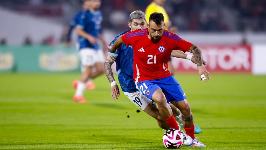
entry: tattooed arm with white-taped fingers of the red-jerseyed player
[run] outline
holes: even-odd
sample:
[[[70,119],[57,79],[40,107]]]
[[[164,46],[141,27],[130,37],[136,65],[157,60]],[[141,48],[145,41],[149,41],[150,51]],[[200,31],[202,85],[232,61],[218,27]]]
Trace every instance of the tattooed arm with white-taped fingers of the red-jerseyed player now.
[[[198,66],[198,70],[199,70],[199,74],[200,74],[200,80],[203,80],[203,81],[207,81],[206,77],[210,80],[210,73],[204,68],[203,66],[203,60],[202,60],[202,53],[200,51],[200,49],[193,45],[189,48],[189,50],[192,51],[196,61],[197,61],[197,66]]]

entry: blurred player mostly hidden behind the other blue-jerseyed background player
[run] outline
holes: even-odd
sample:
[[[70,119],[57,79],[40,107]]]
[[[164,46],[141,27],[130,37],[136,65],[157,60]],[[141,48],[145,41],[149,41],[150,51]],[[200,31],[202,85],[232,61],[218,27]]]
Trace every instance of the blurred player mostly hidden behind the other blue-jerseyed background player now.
[[[79,11],[75,16],[74,18],[72,19],[72,21],[70,22],[70,26],[69,26],[69,31],[67,33],[67,47],[71,47],[71,34],[72,34],[72,30],[74,28],[76,28],[76,26],[80,23],[80,18],[81,18],[81,15],[82,15],[82,12],[83,11],[87,11],[90,9],[90,1],[88,0],[83,0],[83,4],[82,4],[82,11]],[[77,41],[76,43],[76,48],[77,48],[77,51],[79,50],[80,48],[80,44],[79,42]],[[82,66],[81,66],[82,67]],[[84,69],[82,69],[81,71],[84,71]],[[77,88],[77,84],[78,84],[78,81],[74,81],[72,83],[72,86],[76,89]],[[88,79],[87,83],[86,83],[86,88],[87,89],[95,89],[95,85],[93,84],[93,81],[92,79]]]

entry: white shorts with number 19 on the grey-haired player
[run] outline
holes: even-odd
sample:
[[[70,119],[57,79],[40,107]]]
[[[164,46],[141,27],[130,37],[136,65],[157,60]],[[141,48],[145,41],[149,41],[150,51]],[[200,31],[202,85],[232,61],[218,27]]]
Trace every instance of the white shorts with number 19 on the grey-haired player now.
[[[132,101],[136,106],[138,106],[142,110],[144,110],[152,101],[145,97],[143,94],[141,94],[140,91],[136,91],[134,93],[124,92],[124,94],[127,98],[130,99],[130,101]],[[156,103],[153,102],[152,104],[155,105]]]

